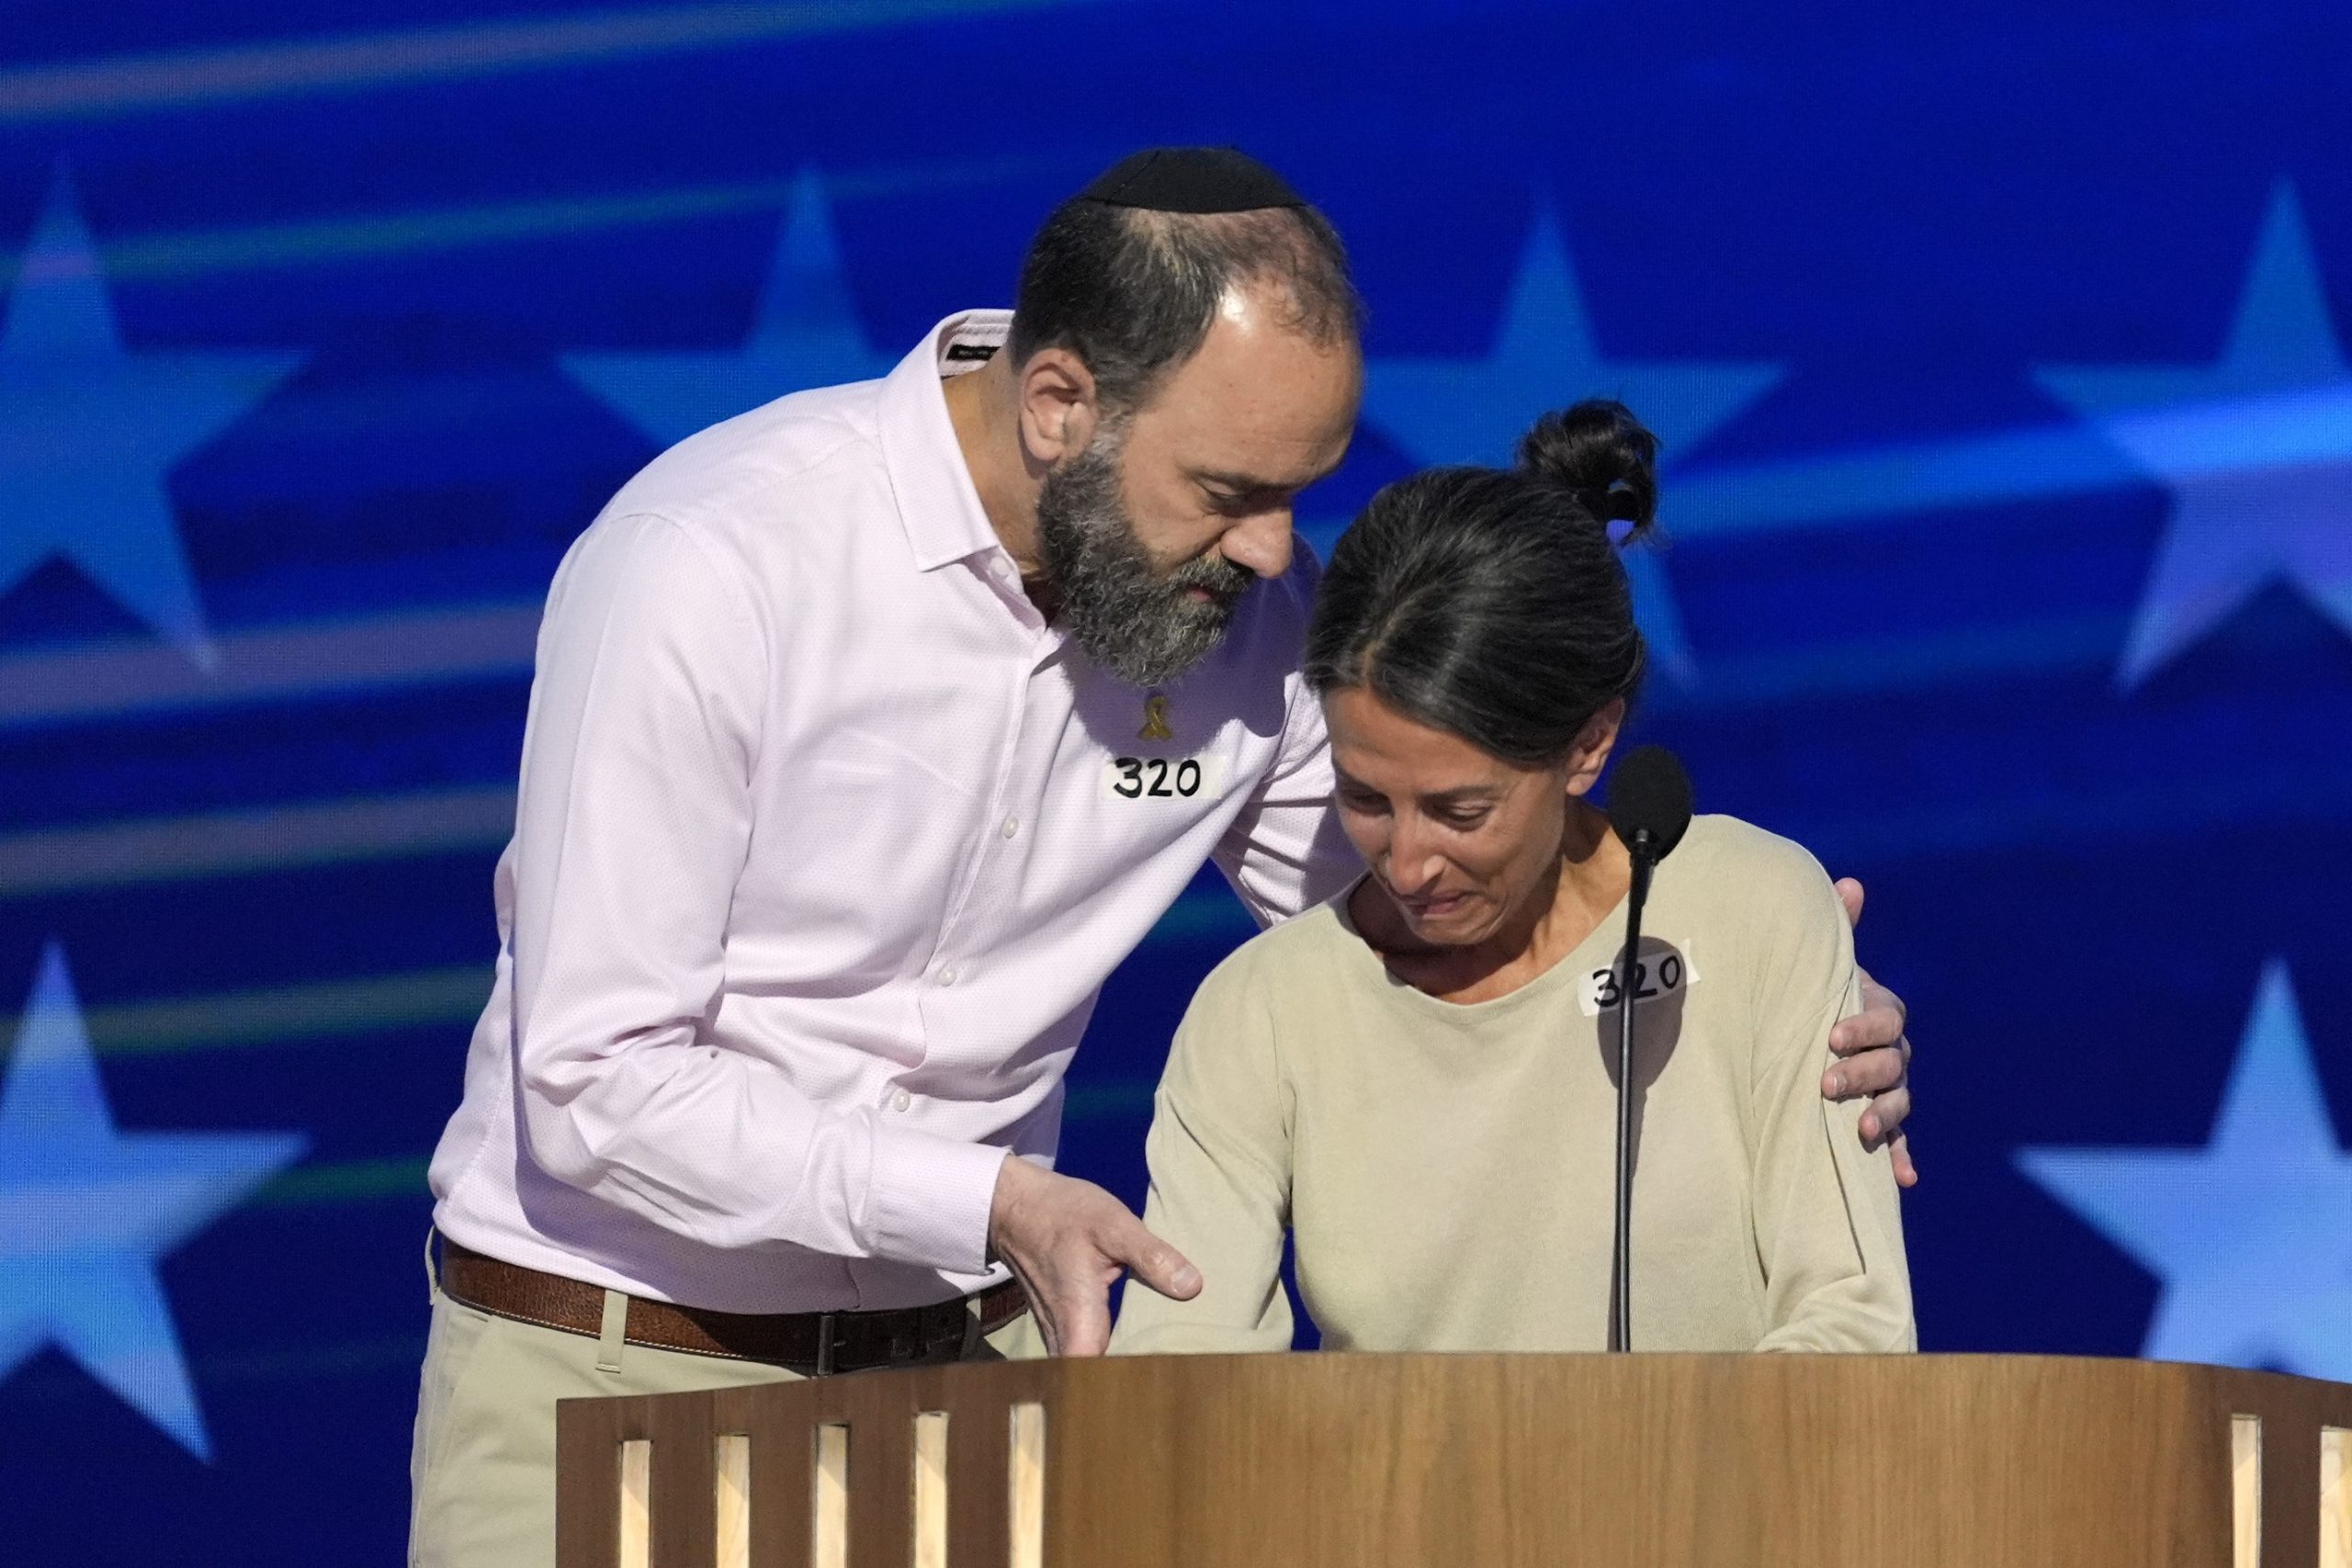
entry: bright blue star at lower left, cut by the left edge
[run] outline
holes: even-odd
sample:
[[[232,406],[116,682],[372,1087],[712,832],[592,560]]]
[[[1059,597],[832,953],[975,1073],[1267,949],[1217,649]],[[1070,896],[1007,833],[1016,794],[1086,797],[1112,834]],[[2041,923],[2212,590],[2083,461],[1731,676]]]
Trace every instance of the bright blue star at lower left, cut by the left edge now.
[[[296,1133],[118,1133],[52,943],[0,1086],[0,1378],[56,1345],[212,1458],[155,1262],[301,1150]]]

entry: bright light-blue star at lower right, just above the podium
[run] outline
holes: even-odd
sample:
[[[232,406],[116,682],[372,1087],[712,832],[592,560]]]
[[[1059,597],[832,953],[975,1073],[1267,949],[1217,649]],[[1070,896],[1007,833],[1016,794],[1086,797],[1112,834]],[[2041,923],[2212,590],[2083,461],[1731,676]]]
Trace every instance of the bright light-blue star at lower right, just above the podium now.
[[[2328,1124],[2286,964],[2263,969],[2201,1150],[2018,1150],[2164,1279],[2140,1354],[2352,1378],[2352,1150]]]

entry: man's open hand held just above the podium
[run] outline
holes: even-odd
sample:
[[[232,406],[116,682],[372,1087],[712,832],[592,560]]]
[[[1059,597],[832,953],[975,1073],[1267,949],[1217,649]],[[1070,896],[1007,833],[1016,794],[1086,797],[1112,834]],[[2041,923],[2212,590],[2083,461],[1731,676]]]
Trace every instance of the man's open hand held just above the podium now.
[[[1174,1300],[1200,1295],[1200,1269],[1143,1229],[1127,1204],[1018,1157],[997,1171],[988,1248],[1028,1291],[1044,1347],[1056,1356],[1098,1356],[1110,1345],[1110,1286],[1120,1269]]]

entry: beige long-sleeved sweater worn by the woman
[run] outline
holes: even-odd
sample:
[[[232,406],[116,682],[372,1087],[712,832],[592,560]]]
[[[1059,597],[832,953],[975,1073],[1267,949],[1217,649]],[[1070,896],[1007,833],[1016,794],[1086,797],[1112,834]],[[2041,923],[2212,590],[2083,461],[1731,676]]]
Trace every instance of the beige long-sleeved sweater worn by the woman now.
[[[1820,865],[1703,816],[1658,867],[1635,1011],[1635,1349],[1915,1349],[1889,1159],[1828,1105],[1853,938]],[[1345,898],[1200,987],[1145,1225],[1204,1276],[1129,1286],[1115,1352],[1287,1349],[1282,1237],[1331,1349],[1606,1349],[1618,907],[1529,985],[1428,997]]]

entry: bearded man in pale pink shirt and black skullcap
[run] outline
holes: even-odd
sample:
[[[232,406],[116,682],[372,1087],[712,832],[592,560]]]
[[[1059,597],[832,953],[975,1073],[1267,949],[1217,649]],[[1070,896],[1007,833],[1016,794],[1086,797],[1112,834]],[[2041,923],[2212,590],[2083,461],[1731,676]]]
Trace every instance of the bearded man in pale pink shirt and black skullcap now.
[[[1202,860],[1261,922],[1355,870],[1291,501],[1359,388],[1329,223],[1141,153],[1011,317],[682,442],[581,536],[433,1159],[412,1563],[550,1561],[557,1399],[1098,1354],[1122,1272],[1200,1288],[1051,1173],[1061,1077]],[[1849,1020],[1875,1135],[1900,1032]]]

